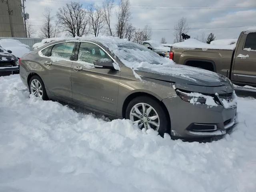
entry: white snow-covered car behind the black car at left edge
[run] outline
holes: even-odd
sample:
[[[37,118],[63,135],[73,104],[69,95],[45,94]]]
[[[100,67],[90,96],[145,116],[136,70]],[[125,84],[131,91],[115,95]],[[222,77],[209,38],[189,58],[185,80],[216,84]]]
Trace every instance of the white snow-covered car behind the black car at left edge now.
[[[18,58],[21,58],[24,54],[30,52],[28,45],[23,44],[16,39],[1,39],[0,46],[6,50],[11,50],[12,54]]]

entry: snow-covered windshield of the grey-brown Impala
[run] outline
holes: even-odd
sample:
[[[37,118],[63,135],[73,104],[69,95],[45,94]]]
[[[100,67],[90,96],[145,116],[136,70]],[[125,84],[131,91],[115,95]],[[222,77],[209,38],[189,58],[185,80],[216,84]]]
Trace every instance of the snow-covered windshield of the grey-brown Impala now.
[[[132,43],[120,42],[117,44],[118,48],[112,50],[118,58],[124,63],[149,63],[149,64],[162,64],[166,60],[160,57],[155,52],[148,48]]]

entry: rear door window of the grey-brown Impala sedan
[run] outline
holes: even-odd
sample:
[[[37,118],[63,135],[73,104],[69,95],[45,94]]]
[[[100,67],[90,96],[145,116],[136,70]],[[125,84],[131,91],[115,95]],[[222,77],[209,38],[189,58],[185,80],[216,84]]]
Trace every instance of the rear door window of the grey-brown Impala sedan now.
[[[61,57],[70,60],[75,46],[75,42],[59,43],[54,45],[50,56]]]

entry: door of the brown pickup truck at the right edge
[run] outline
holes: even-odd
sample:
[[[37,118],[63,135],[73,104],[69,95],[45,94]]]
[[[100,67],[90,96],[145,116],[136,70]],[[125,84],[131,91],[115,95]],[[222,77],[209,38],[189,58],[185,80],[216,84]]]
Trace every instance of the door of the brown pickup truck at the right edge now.
[[[244,34],[237,46],[233,80],[256,84],[256,33]]]

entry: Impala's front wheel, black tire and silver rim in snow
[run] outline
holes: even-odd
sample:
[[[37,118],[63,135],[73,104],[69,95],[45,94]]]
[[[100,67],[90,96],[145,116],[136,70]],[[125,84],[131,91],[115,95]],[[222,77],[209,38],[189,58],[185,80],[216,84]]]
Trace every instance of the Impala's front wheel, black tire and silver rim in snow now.
[[[134,98],[126,108],[126,119],[138,124],[140,129],[154,129],[161,136],[168,130],[168,118],[161,104],[147,96]]]

